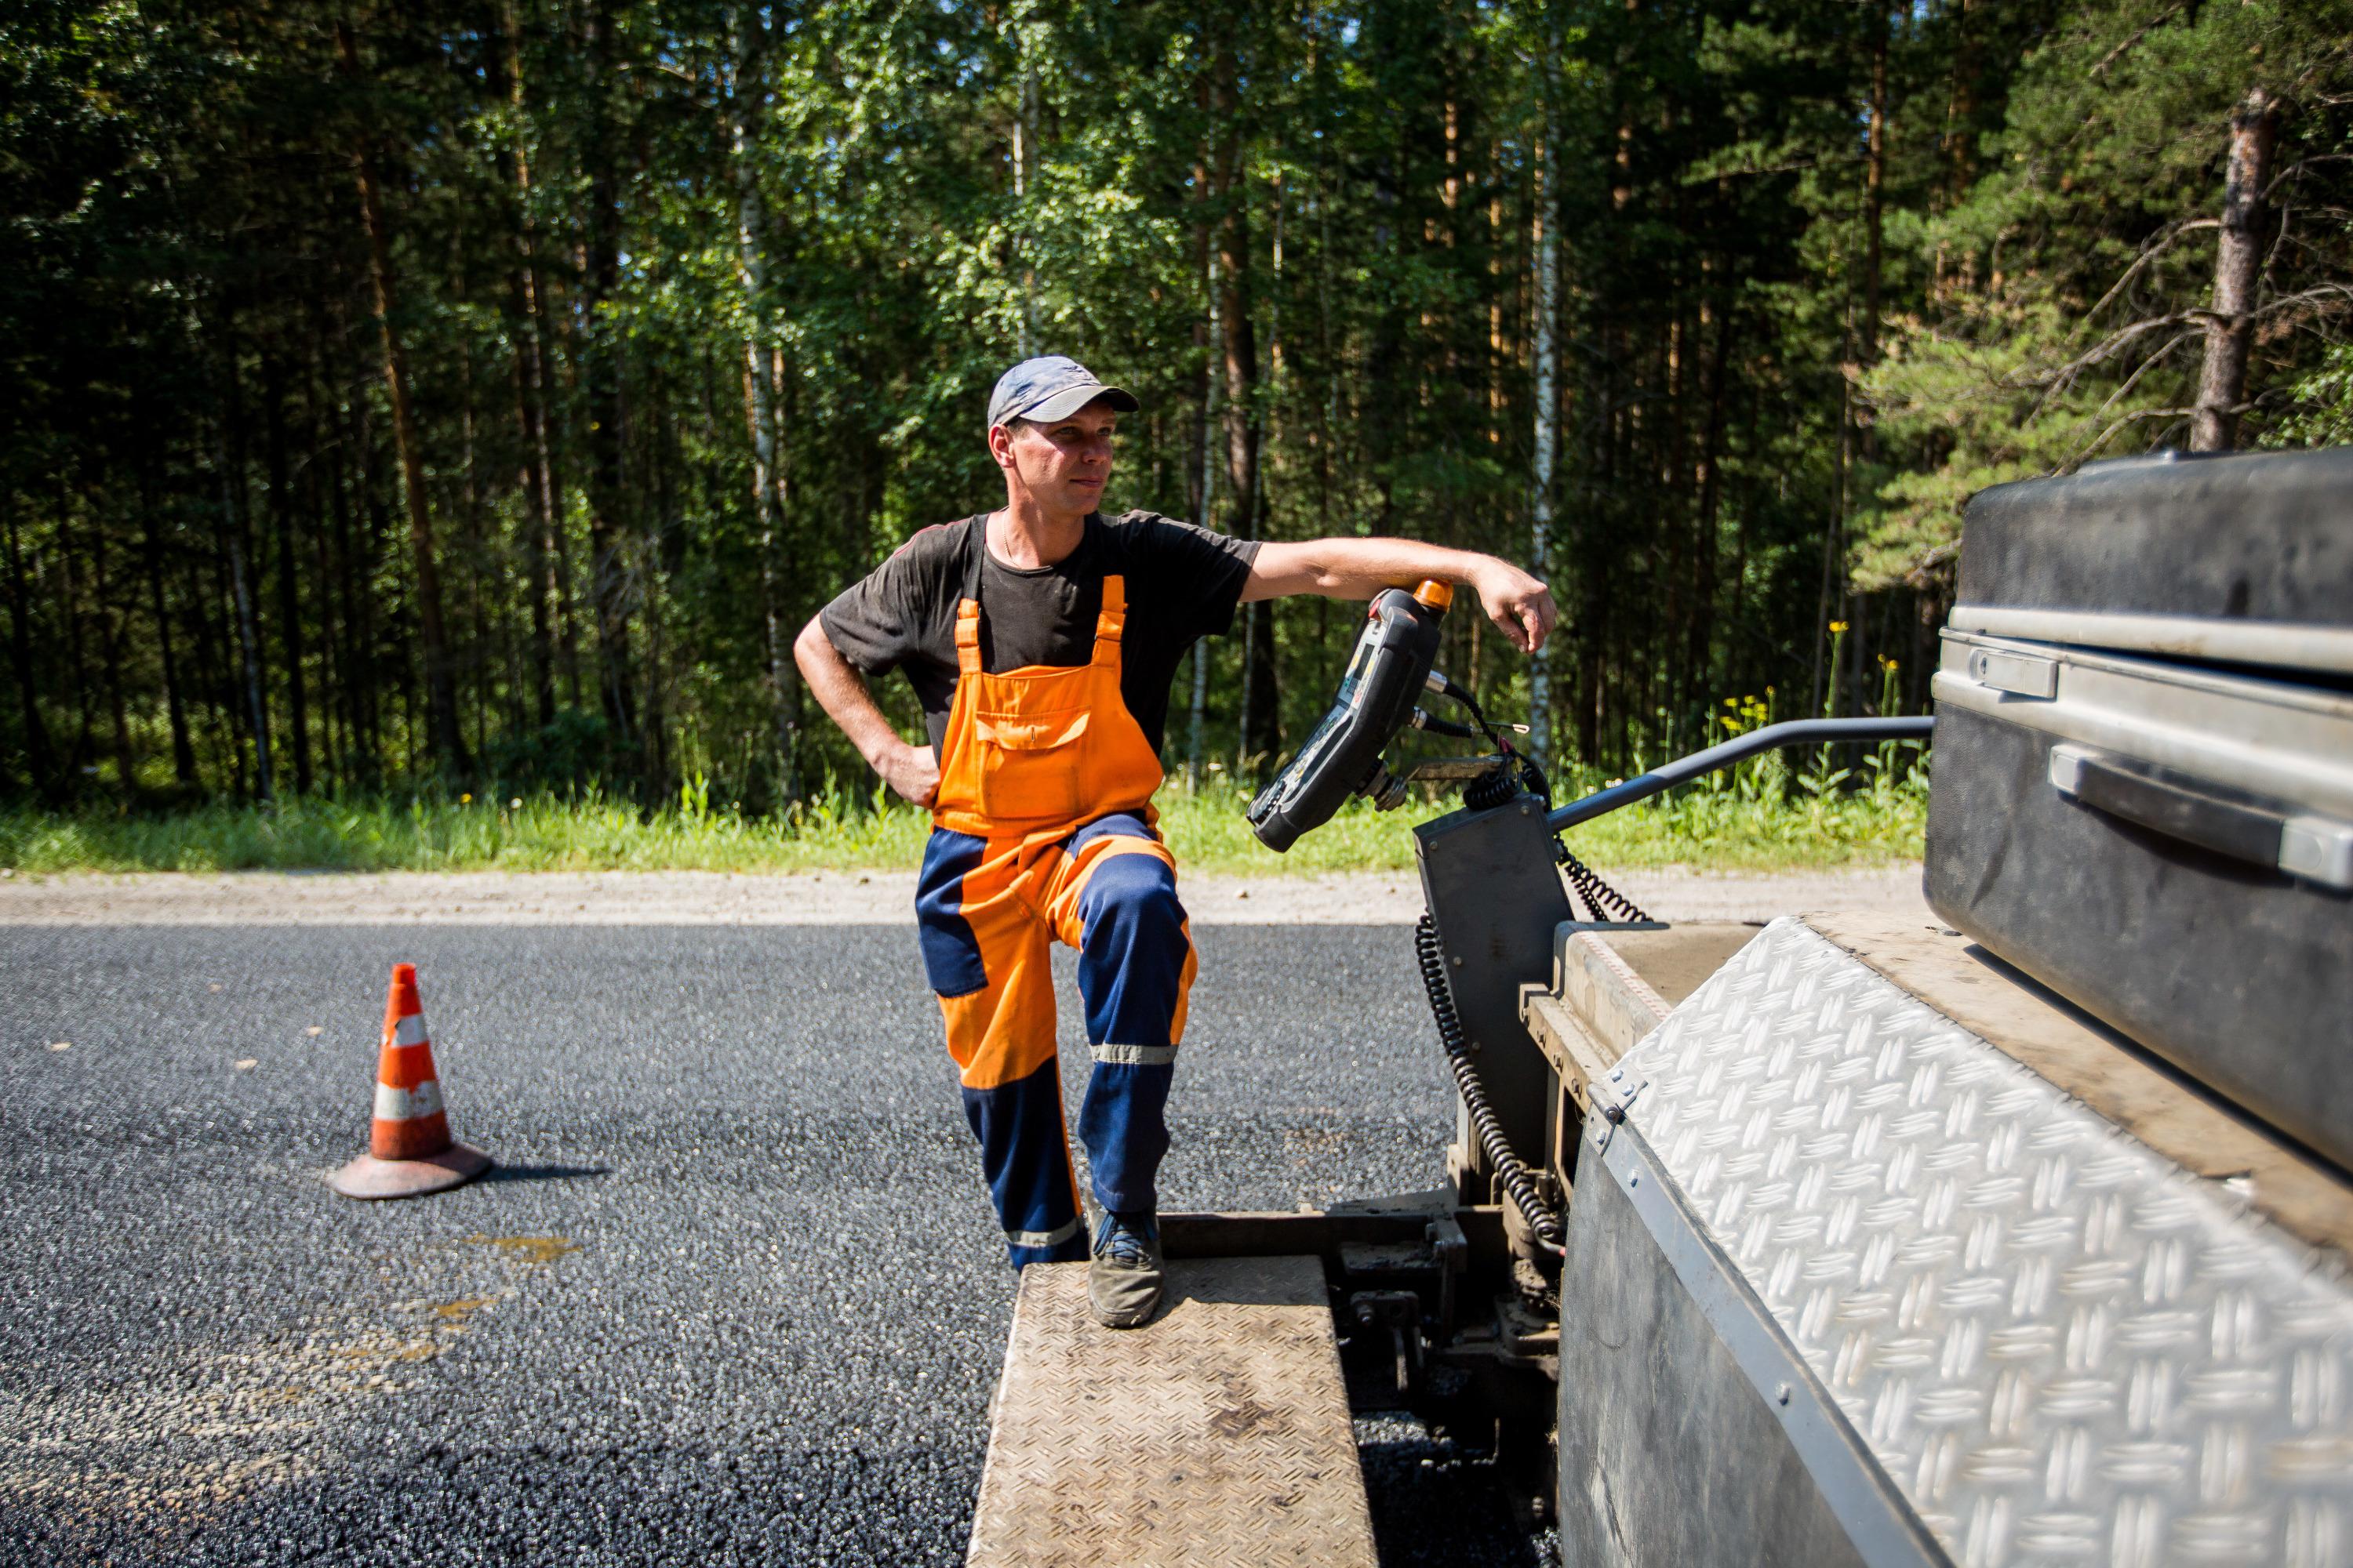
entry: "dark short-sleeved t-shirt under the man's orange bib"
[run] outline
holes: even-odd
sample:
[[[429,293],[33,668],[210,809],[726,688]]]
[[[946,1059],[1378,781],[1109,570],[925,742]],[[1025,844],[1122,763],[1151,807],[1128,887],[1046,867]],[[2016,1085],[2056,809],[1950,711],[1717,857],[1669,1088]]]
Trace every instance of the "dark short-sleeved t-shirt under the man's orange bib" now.
[[[1169,682],[1200,637],[1233,625],[1259,541],[1212,534],[1160,512],[1087,517],[1087,534],[1052,567],[1019,569],[988,555],[988,520],[965,517],[915,534],[899,552],[819,611],[826,637],[866,675],[906,670],[936,752],[955,701],[955,602],[979,552],[981,668],[1082,665],[1094,656],[1104,578],[1127,588],[1120,696],[1160,750]]]

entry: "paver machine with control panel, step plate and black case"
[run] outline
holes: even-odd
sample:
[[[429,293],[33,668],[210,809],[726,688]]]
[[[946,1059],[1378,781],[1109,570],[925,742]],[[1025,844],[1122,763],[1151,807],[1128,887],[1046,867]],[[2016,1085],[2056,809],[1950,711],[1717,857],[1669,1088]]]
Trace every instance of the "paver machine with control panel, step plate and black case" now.
[[[972,1561],[1369,1563],[1351,1413],[1407,1408],[1567,1563],[2353,1563],[2353,449],[1974,498],[1932,919],[1666,924],[1574,856],[1932,719],[1553,804],[1433,670],[1442,614],[1374,602],[1249,809],[1287,849],[1461,790],[1414,827],[1442,1182],[1165,1215],[1127,1335],[1028,1269]]]

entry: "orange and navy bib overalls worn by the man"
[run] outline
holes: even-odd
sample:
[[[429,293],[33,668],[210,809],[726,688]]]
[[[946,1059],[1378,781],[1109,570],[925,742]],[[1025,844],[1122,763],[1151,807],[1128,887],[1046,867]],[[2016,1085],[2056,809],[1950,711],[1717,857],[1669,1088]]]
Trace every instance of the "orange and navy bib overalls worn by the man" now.
[[[974,522],[955,701],[915,914],[965,1119],[1014,1267],[1087,1255],[1054,1056],[1052,943],[1078,947],[1094,1067],[1078,1114],[1106,1211],[1158,1206],[1165,1105],[1193,987],[1176,860],[1153,832],[1160,757],[1120,696],[1127,595],[1104,578],[1082,665],[981,668]]]

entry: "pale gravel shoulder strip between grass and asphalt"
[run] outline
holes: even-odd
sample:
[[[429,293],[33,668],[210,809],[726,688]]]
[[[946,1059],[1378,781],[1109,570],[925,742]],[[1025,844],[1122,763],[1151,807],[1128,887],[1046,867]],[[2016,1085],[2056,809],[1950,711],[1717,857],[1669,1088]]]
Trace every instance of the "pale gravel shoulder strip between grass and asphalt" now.
[[[1929,919],[1920,865],[1718,875],[1605,870],[1659,919],[1873,910]],[[1186,877],[1198,926],[1402,926],[1412,872]],[[0,926],[875,926],[911,924],[913,872],[231,872],[0,882]]]

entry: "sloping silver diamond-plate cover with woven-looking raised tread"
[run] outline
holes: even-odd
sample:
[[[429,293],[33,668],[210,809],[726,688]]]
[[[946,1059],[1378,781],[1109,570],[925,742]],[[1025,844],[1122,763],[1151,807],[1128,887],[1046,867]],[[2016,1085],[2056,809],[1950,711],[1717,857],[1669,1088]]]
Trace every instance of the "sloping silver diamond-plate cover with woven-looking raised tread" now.
[[[1591,1150],[1664,1251],[1704,1237],[1687,1286],[1729,1269],[1765,1406],[1835,1413],[1953,1561],[2353,1561],[2353,1281],[2231,1182],[1788,919],[1612,1077]]]

